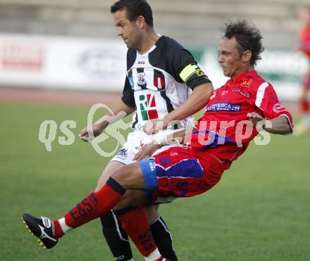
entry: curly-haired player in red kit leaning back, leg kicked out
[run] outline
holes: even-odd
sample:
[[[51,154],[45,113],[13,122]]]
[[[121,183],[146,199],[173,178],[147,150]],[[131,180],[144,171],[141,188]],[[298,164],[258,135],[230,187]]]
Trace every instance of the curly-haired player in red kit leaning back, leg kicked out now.
[[[52,248],[63,234],[112,208],[204,193],[220,181],[224,170],[246,151],[261,129],[273,134],[292,133],[292,116],[278,101],[272,85],[254,70],[263,51],[261,39],[259,30],[246,21],[226,25],[218,61],[230,79],[213,92],[192,135],[184,139],[185,131],[172,134],[175,139],[184,139],[182,146],[159,149],[171,139],[159,134],[156,144],[147,144],[137,153],[136,163],[113,172],[102,189],[90,193],[61,219],[24,214],[30,231]],[[143,160],[152,153],[149,160]],[[123,196],[126,191],[131,192]],[[147,240],[145,246],[152,247]],[[159,258],[154,255],[146,260]]]

